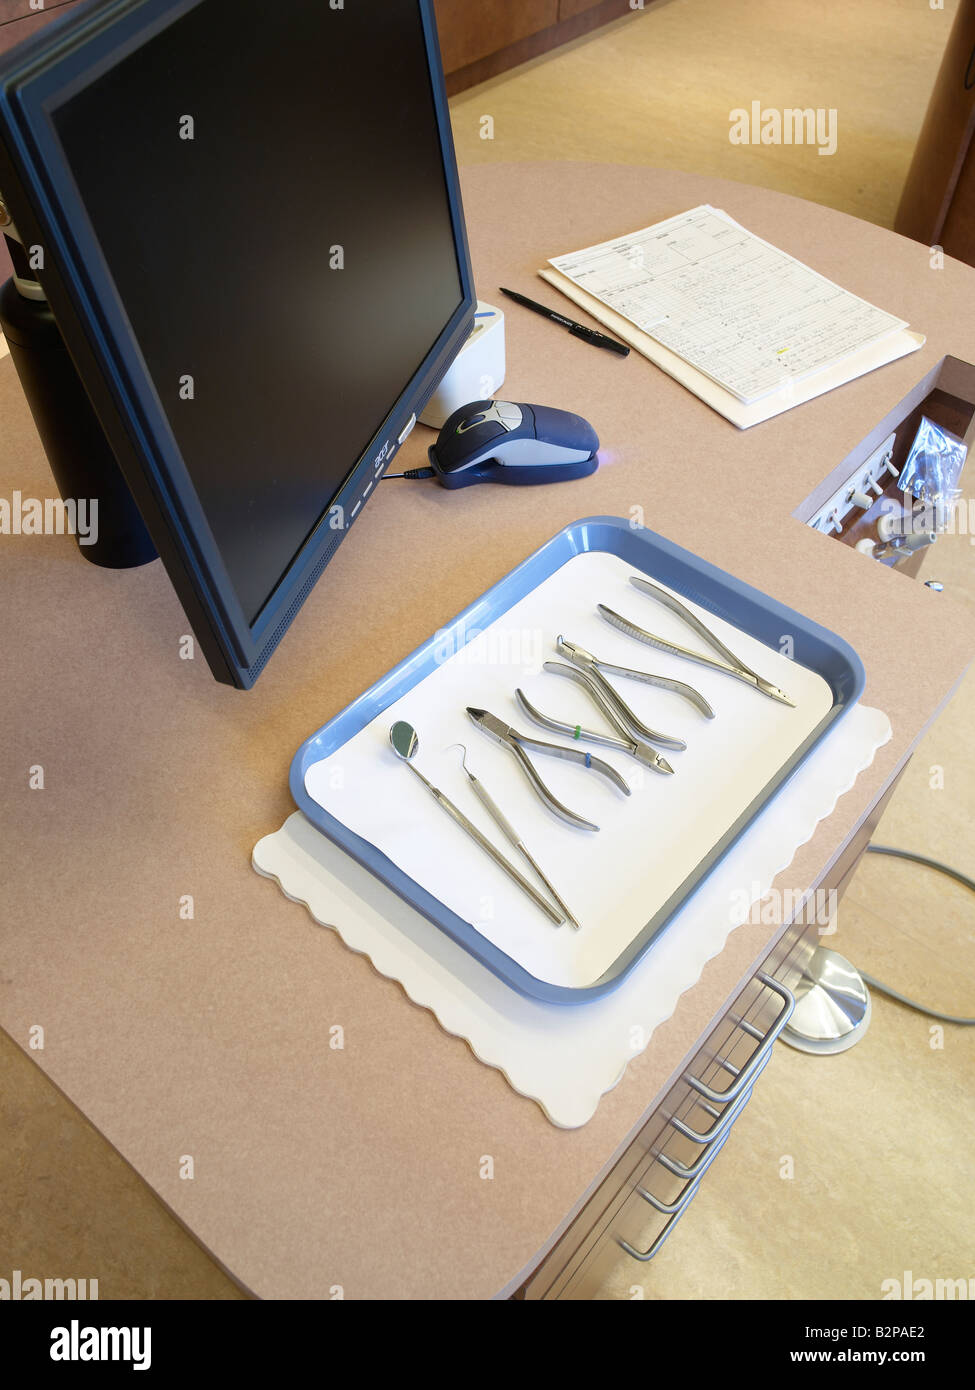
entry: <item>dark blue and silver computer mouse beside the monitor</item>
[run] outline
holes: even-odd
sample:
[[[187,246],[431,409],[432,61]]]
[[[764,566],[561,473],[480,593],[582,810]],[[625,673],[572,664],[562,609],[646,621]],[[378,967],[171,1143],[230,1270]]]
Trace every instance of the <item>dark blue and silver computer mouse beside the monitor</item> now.
[[[430,463],[445,488],[474,482],[519,486],[586,478],[599,467],[595,430],[569,410],[510,400],[473,400],[455,410]]]

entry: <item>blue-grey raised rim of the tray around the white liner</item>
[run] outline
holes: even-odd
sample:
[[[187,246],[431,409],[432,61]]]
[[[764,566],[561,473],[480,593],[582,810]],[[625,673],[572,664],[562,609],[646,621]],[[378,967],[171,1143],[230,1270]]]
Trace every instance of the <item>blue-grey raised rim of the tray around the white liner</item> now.
[[[456,649],[460,649],[472,639],[473,634],[506,613],[567,560],[590,550],[604,550],[619,556],[633,569],[666,584],[691,603],[698,603],[716,617],[732,623],[769,646],[777,645],[783,631],[793,634],[794,660],[816,671],[828,682],[833,694],[833,703],[807,739],[783,763],[776,776],[700,860],[694,872],[645,927],[637,933],[612,966],[593,984],[572,988],[538,980],[392,863],[376,845],[355,834],[324,810],[305,790],[305,774],[313,763],[328,758],[395,701],[430,676],[438,664],[438,653],[442,653],[445,639],[453,638]],[[423,913],[452,941],[469,951],[512,990],[545,1004],[583,1004],[608,994],[623,981],[626,974],[647,954],[670,917],[744,834],[755,816],[786,784],[833,724],[857,703],[864,682],[865,674],[860,657],[847,642],[828,628],[803,617],[784,603],[743,584],[652,531],[634,530],[629,521],[620,517],[587,517],[559,531],[541,549],[483,594],[470,607],[459,613],[452,623],[438,630],[435,635],[430,637],[370,689],[324,724],[312,738],[306,739],[292,759],[291,794],[299,810],[328,840],[374,873],[387,887]]]

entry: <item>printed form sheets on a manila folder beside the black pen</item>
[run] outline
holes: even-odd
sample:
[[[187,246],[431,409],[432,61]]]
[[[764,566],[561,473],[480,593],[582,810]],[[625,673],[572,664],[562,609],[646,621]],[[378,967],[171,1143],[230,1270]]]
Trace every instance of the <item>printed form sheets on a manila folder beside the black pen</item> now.
[[[924,343],[715,207],[549,265],[544,279],[741,430]]]

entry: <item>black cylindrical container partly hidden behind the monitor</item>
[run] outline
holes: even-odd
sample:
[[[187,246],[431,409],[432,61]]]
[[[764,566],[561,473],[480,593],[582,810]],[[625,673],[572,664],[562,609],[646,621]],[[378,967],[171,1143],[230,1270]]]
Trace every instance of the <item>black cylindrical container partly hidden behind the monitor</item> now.
[[[93,564],[132,569],[156,546],[64,345],[50,304],[0,286],[0,328],[61,498],[97,498],[97,539],[78,549]]]

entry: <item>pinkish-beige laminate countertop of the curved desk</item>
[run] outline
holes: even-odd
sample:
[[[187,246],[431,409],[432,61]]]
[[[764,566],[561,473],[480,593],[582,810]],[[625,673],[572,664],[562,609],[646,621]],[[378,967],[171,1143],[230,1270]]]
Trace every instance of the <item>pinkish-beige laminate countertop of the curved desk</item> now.
[[[179,659],[188,624],[160,563],[113,573],[65,538],[0,538],[0,1022],[25,1048],[43,1026],[32,1059],[263,1297],[510,1291],[777,934],[734,931],[595,1118],[556,1130],[250,869],[292,809],[288,766],[309,734],[562,525],[643,507],[652,530],[844,637],[864,699],[890,716],[893,741],[779,880],[804,888],[975,651],[947,595],[791,514],[946,354],[975,360],[975,271],[932,270],[925,247],[823,207],[645,168],[480,167],[465,199],[488,302],[499,284],[548,299],[547,256],[709,202],[928,342],[741,434],[636,353],[505,304],[502,393],[587,416],[613,461],[541,489],[380,488],[248,694]],[[421,463],[428,438],[417,430],[398,466]],[[0,495],[17,488],[53,492],[3,357]],[[33,764],[43,792],[28,790]]]

